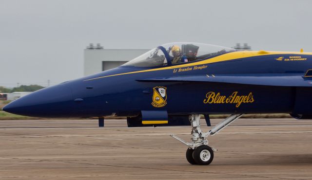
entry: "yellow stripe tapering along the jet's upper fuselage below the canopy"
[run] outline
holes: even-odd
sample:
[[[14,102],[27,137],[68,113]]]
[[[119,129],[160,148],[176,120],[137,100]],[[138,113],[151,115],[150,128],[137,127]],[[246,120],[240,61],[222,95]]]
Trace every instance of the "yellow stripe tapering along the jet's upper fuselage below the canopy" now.
[[[265,54],[263,52],[265,52]],[[179,65],[173,65],[173,66],[169,66],[169,67],[156,68],[156,69],[150,69],[150,70],[142,70],[142,71],[135,71],[135,72],[125,72],[125,73],[120,73],[120,74],[112,74],[112,75],[106,75],[106,76],[96,77],[96,78],[92,78],[92,79],[86,79],[84,81],[90,81],[90,80],[94,80],[94,79],[99,79],[99,78],[104,78],[104,77],[111,77],[111,76],[117,76],[117,75],[133,74],[133,73],[139,73],[139,72],[152,72],[152,71],[161,71],[161,70],[170,70],[170,69],[176,69],[176,68],[184,68],[184,67],[188,67],[188,66],[197,66],[197,65],[211,64],[211,63],[215,63],[215,62],[222,62],[222,61],[228,61],[228,60],[245,58],[245,57],[272,55],[272,54],[298,54],[298,55],[304,54],[304,55],[312,55],[312,53],[300,53],[300,52],[235,51],[235,52],[232,52],[232,53],[222,54],[222,55],[210,58],[210,59],[196,61],[194,63],[179,64]]]

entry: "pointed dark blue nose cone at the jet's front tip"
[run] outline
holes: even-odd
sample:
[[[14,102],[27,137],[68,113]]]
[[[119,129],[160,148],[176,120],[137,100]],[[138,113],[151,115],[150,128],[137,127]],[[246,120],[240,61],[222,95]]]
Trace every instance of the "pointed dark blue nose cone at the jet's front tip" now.
[[[71,88],[60,84],[20,97],[2,109],[32,117],[70,117],[73,102]]]

